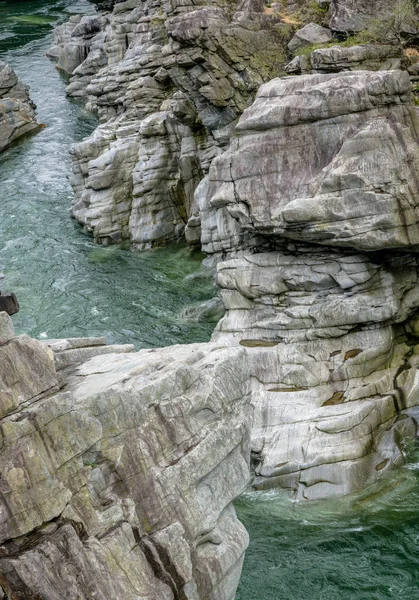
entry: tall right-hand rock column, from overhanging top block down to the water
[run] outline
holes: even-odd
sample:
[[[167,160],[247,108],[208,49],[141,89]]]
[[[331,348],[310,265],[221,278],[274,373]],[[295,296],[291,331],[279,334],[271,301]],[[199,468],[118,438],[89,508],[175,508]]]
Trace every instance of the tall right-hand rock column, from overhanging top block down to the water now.
[[[213,339],[249,354],[258,488],[362,489],[416,434],[418,126],[406,72],[275,79],[212,163]]]

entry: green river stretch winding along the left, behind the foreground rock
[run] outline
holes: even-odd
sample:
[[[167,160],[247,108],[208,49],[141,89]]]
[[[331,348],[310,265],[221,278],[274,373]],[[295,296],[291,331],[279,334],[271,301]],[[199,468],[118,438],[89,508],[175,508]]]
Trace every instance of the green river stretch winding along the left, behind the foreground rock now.
[[[208,279],[193,279],[200,255],[181,246],[144,254],[101,248],[70,218],[69,147],[96,121],[65,97],[45,52],[53,24],[76,10],[92,7],[0,0],[0,60],[30,85],[46,125],[0,156],[1,285],[19,298],[15,327],[38,338],[106,335],[137,348],[208,341],[213,324],[179,318],[185,306],[214,295]]]

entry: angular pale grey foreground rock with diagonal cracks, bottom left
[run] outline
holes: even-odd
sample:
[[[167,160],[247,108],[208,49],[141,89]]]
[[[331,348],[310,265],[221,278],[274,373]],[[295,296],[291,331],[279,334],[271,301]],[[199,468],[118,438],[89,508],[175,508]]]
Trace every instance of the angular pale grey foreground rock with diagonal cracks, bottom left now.
[[[232,506],[250,476],[244,349],[197,344],[67,362],[57,392],[50,348],[60,356],[100,340],[45,346],[11,337],[5,319],[3,593],[233,600],[248,542]]]

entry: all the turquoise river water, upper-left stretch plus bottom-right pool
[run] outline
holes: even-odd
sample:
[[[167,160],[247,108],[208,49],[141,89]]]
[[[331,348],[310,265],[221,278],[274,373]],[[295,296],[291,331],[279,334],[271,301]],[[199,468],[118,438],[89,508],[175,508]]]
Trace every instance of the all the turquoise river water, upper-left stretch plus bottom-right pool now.
[[[93,10],[87,0],[0,0],[0,60],[31,86],[46,125],[0,157],[0,271],[21,303],[16,329],[138,348],[206,341],[212,325],[179,318],[214,293],[201,256],[101,248],[70,218],[68,150],[96,122],[65,97],[45,52],[54,24]],[[301,505],[248,493],[236,508],[251,538],[237,600],[419,599],[417,452],[362,496]]]

